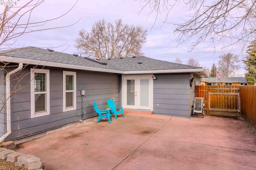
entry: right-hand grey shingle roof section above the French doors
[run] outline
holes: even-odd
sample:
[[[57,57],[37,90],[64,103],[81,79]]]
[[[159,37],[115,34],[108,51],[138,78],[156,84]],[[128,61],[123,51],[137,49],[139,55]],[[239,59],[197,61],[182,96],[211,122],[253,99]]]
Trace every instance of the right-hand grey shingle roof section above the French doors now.
[[[103,59],[101,60],[112,66],[118,67],[123,71],[139,71],[139,70],[172,70],[172,69],[189,69],[189,68],[201,68],[195,66],[189,66],[185,64],[171,63],[168,61],[151,59],[145,56],[137,57],[124,57],[113,58],[113,59]],[[139,64],[141,63],[141,64]]]

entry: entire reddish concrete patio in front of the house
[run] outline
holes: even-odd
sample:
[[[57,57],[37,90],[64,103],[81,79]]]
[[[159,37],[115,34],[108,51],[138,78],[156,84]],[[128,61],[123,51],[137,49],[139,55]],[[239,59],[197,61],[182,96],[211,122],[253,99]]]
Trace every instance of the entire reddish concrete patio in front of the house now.
[[[240,117],[169,117],[125,113],[22,143],[47,170],[251,170],[256,135]]]

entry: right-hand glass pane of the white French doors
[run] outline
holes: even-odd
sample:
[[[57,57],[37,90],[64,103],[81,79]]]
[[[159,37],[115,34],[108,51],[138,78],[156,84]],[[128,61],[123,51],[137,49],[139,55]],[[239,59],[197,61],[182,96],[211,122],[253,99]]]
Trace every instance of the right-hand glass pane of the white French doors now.
[[[140,80],[140,106],[148,106],[149,85],[148,80]]]

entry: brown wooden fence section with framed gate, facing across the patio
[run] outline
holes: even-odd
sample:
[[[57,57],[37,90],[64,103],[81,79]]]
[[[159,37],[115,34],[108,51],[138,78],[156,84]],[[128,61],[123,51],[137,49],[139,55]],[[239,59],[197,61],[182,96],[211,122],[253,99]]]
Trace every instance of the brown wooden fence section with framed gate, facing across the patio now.
[[[240,115],[240,88],[230,86],[195,86],[195,97],[204,98],[204,111],[211,115]]]

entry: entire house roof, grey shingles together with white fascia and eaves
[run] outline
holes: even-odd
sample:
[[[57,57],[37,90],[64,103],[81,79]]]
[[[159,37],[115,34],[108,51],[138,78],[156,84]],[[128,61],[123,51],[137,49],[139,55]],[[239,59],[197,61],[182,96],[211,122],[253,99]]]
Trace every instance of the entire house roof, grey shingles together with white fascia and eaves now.
[[[151,59],[148,57],[125,57],[94,60],[37,47],[25,47],[14,50],[0,51],[1,61],[54,66],[78,70],[112,72],[118,74],[156,74],[190,72],[201,77],[208,77],[204,68],[188,66]],[[138,62],[142,62],[139,64]]]

